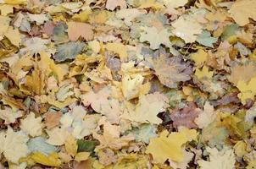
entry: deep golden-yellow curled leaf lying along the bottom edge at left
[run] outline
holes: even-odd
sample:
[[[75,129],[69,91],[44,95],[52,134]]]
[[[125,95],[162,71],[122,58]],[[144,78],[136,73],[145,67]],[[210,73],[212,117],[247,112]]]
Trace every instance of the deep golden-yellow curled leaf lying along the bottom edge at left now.
[[[36,163],[45,166],[60,166],[61,161],[58,159],[57,153],[52,153],[50,155],[43,155],[41,152],[36,152],[31,155],[31,158],[36,161]]]

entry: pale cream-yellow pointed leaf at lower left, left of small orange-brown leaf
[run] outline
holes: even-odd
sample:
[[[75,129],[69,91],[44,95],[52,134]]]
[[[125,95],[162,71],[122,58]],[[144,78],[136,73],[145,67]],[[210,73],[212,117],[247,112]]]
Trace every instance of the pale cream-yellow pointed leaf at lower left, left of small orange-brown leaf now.
[[[32,137],[42,134],[42,117],[35,117],[31,112],[25,119],[21,120],[20,128]]]

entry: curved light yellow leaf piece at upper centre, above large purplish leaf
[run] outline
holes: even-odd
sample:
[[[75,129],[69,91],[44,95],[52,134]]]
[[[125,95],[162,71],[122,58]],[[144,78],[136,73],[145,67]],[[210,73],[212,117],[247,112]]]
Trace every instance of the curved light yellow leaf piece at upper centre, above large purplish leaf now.
[[[108,43],[105,47],[111,52],[118,53],[121,61],[124,61],[128,57],[126,46],[122,43]]]

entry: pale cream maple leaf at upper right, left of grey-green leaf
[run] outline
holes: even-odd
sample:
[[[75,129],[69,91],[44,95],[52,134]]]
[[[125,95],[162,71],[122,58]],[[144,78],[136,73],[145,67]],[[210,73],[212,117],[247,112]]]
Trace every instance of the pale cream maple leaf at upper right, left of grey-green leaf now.
[[[189,29],[187,29],[189,25]],[[186,43],[192,43],[197,40],[197,35],[202,33],[203,26],[200,25],[197,20],[190,17],[181,16],[179,19],[175,20],[172,24],[175,28],[173,33],[181,37]]]

